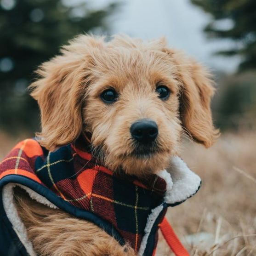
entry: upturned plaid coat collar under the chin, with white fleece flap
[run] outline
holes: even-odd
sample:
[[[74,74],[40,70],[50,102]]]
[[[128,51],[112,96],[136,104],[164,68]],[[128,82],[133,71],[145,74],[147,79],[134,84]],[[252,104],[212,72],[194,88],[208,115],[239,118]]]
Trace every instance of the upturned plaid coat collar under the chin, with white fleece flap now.
[[[176,205],[188,199],[200,187],[201,179],[193,173],[186,163],[179,157],[171,158],[171,165],[166,170],[159,170],[157,174],[149,174],[141,177],[130,175],[125,171],[111,171],[104,165],[101,158],[95,157],[91,146],[91,134],[82,133],[72,144],[73,154],[79,166],[84,169],[91,168],[96,171],[103,171],[117,179],[136,184],[142,188],[165,197],[164,201],[170,205]],[[166,193],[165,193],[166,192]]]

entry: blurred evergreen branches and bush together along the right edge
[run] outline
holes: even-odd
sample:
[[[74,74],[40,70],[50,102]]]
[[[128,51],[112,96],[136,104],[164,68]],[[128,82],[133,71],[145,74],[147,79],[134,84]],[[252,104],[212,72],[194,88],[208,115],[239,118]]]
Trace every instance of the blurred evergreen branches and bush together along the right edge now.
[[[256,124],[256,1],[191,0],[211,15],[204,32],[209,40],[231,40],[230,47],[217,51],[238,55],[236,74],[219,74],[213,102],[216,124],[224,129],[252,129]]]

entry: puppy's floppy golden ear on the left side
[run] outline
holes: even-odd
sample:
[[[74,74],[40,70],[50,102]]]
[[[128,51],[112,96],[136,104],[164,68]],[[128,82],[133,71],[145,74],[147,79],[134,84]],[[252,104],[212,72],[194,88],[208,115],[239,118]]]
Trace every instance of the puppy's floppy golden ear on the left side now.
[[[103,39],[81,35],[61,50],[62,55],[43,63],[40,78],[29,86],[41,111],[40,145],[54,150],[74,142],[83,128],[82,102],[90,83],[90,51]]]

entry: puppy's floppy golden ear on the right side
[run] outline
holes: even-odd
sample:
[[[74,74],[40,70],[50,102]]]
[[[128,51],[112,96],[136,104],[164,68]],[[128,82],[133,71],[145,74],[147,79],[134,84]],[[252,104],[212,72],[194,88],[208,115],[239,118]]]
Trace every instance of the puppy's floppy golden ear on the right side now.
[[[215,89],[209,72],[182,52],[165,50],[177,68],[180,83],[180,119],[195,142],[209,148],[219,137],[212,121],[210,101]]]

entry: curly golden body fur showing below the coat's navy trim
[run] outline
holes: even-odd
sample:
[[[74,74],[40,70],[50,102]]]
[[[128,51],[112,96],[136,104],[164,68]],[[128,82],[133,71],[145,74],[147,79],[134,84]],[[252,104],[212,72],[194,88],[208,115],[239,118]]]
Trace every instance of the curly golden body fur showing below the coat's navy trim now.
[[[95,224],[51,209],[15,188],[17,210],[39,256],[135,256]]]

